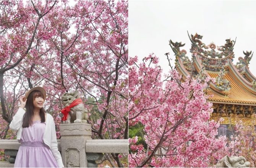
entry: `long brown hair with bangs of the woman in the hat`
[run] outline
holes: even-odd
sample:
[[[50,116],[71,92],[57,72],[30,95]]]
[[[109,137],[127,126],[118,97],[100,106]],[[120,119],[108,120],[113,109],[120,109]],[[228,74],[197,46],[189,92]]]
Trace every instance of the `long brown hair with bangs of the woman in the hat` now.
[[[35,100],[36,96],[39,97],[44,97],[44,95],[39,91],[39,90],[34,90],[28,95],[28,100],[26,102],[25,108],[26,108],[26,113],[23,116],[23,124],[22,127],[29,127],[30,125],[33,124],[33,116],[34,116],[34,105],[33,101]],[[41,117],[41,123],[45,122],[45,111],[44,108],[41,108],[39,111],[39,115]]]

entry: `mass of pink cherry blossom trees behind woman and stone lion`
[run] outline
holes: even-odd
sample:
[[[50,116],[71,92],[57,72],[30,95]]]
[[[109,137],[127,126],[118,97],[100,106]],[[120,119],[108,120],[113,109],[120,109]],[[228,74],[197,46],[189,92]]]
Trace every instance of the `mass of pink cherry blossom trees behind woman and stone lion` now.
[[[60,137],[61,95],[79,90],[94,138],[128,138],[128,2],[2,1],[0,14],[0,100],[6,123],[18,98],[43,86],[45,111],[55,118]],[[118,154],[107,158],[116,161],[112,166],[124,166]]]

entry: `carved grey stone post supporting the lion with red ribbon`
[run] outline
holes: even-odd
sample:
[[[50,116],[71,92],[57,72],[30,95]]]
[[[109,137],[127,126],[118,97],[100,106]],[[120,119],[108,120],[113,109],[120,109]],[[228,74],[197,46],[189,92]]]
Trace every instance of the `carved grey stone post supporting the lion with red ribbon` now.
[[[65,167],[87,167],[86,139],[91,139],[91,125],[87,123],[60,124],[60,147]]]

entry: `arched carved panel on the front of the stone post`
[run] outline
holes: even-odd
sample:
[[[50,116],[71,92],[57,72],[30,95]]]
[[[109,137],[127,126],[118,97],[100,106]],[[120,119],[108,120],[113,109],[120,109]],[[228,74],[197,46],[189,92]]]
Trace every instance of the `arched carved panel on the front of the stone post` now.
[[[67,167],[80,167],[80,153],[78,149],[70,148],[66,150]]]

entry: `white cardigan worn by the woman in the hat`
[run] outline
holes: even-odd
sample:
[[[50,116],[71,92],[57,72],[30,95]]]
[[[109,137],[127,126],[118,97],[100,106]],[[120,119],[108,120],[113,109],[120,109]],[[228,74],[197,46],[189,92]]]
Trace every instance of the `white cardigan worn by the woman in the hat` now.
[[[23,124],[23,115],[25,114],[25,110],[23,108],[19,108],[16,115],[13,116],[13,120],[10,123],[10,128],[14,131],[17,131],[17,140],[20,140],[21,138],[21,132],[22,132],[22,124]],[[46,121],[45,121],[45,129],[44,129],[44,136],[43,140],[44,143],[50,147],[50,150],[52,151],[52,154],[55,158],[55,160],[58,163],[59,167],[64,167],[62,163],[62,157],[60,155],[60,152],[58,151],[58,142],[56,137],[56,131],[55,131],[55,124],[52,115],[46,113]]]

